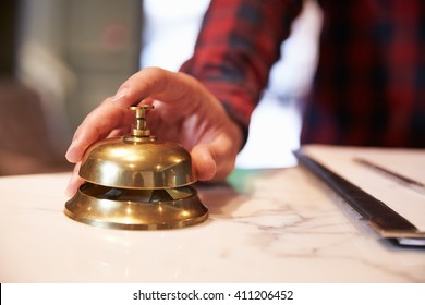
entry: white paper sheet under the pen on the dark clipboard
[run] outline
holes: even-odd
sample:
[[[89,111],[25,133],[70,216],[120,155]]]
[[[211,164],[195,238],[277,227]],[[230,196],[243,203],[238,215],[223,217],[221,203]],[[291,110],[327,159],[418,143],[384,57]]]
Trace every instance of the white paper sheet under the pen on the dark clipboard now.
[[[305,145],[304,154],[357,185],[425,232],[425,193],[355,161],[362,158],[425,184],[425,149]]]

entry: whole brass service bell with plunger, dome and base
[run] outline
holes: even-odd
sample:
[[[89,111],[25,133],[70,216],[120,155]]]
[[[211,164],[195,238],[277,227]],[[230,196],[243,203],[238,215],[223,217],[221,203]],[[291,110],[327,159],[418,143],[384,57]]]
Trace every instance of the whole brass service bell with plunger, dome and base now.
[[[146,111],[153,108],[131,107],[136,112],[132,133],[100,141],[86,151],[78,173],[86,183],[66,202],[68,217],[126,230],[184,228],[208,218],[190,186],[196,182],[191,155],[146,129]]]

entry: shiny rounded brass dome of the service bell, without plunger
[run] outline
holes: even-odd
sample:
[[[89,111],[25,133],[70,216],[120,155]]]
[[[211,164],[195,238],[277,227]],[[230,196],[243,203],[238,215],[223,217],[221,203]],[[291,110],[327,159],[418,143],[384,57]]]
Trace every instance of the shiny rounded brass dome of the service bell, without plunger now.
[[[98,142],[83,158],[80,175],[119,188],[180,187],[196,181],[191,155],[181,145],[151,137]]]

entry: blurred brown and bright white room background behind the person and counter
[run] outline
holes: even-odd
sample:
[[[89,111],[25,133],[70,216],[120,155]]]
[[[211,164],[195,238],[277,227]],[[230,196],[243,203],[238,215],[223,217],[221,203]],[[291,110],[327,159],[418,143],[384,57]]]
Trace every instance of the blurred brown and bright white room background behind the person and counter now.
[[[2,0],[0,175],[71,170],[85,115],[144,66],[177,71],[209,0]],[[316,68],[321,13],[306,0],[255,110],[240,168],[293,166],[300,110]]]

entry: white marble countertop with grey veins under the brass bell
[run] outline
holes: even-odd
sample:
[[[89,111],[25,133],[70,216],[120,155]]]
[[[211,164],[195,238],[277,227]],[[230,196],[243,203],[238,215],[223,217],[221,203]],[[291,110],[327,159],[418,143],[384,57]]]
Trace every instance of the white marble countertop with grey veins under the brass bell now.
[[[424,251],[380,240],[303,168],[199,185],[209,218],[169,231],[69,219],[69,178],[0,178],[0,282],[425,281]]]

